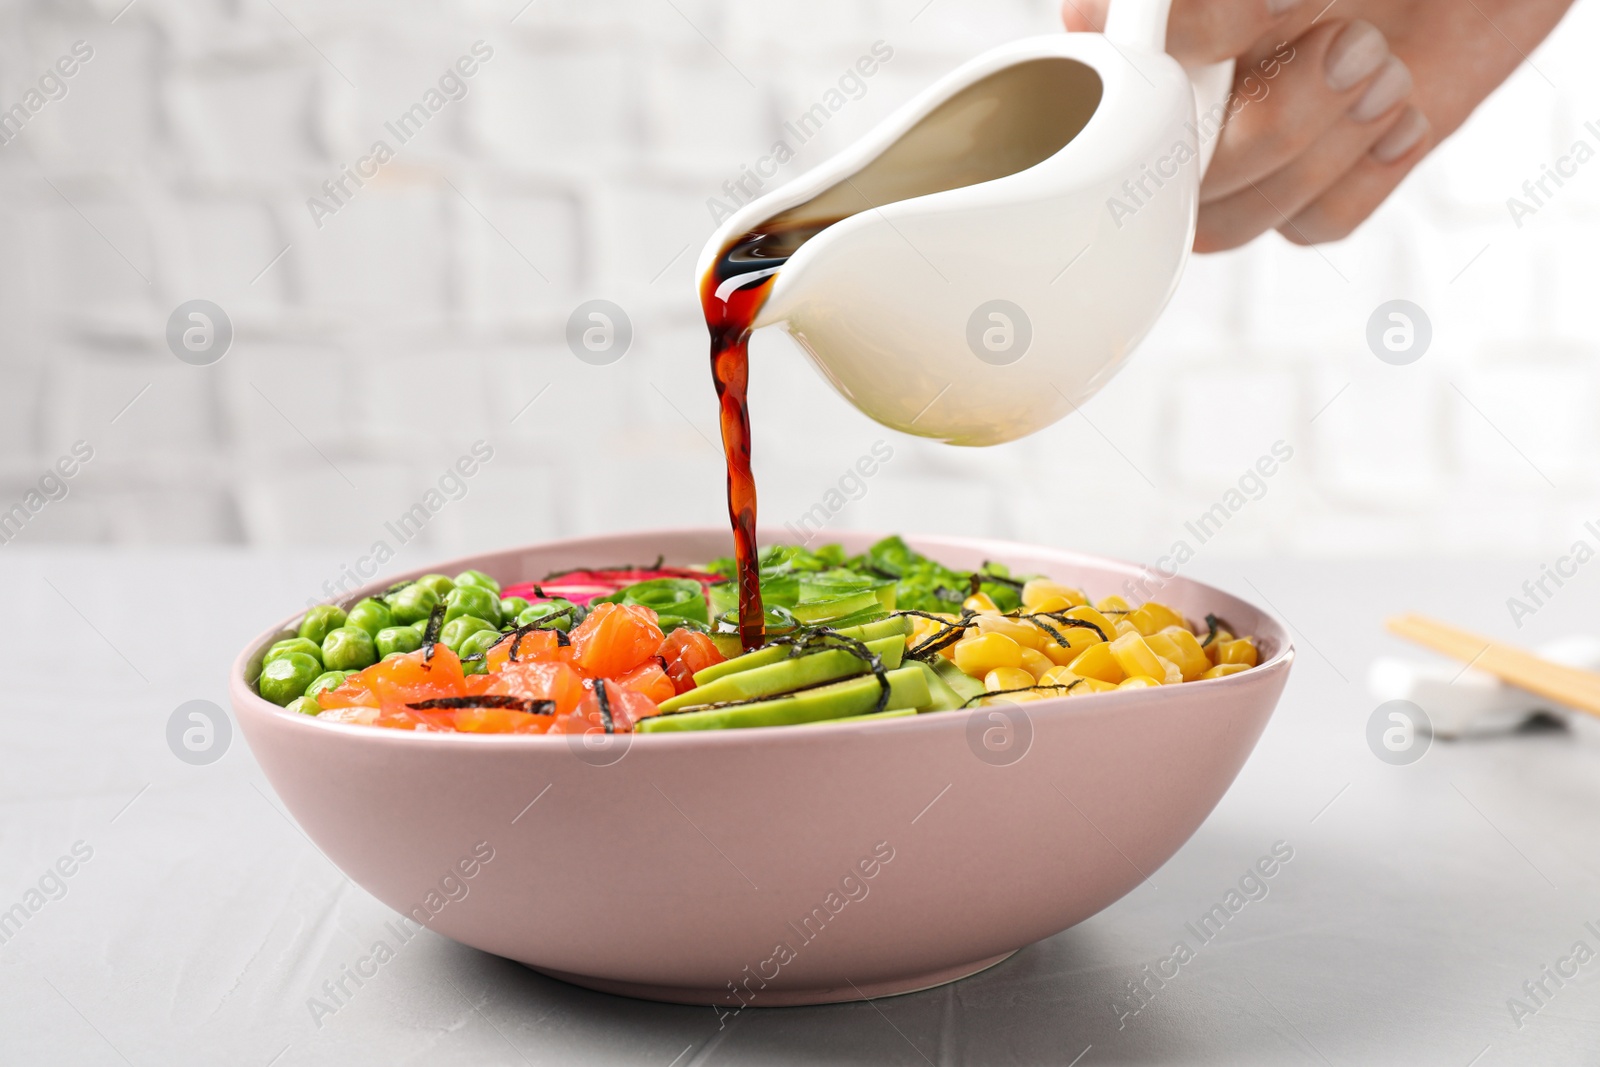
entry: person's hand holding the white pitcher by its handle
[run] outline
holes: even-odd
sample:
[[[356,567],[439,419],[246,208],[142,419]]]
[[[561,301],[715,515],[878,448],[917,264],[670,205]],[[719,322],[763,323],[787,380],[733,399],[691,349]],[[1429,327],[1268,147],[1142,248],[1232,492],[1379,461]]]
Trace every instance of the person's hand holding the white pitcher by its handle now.
[[[1066,0],[1067,29],[1102,27],[1107,2]],[[1570,5],[1174,0],[1168,51],[1186,66],[1237,58],[1234,93],[1248,101],[1200,186],[1195,251],[1269,229],[1299,245],[1349,235]]]

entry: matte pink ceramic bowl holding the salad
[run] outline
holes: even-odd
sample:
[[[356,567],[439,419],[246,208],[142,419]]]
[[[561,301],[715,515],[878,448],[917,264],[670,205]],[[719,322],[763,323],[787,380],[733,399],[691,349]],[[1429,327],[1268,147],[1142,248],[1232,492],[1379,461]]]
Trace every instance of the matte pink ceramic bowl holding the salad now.
[[[853,552],[875,539],[840,534]],[[430,569],[509,584],[658,553],[696,563],[728,541],[619,534]],[[998,541],[910,542],[955,568],[998,560],[1094,597],[1138,574]],[[613,993],[728,1011],[829,1003],[998,963],[1117,901],[1195,832],[1261,736],[1294,651],[1275,617],[1200,582],[1174,579],[1158,598],[1254,633],[1262,665],[1005,710],[594,749],[283,712],[246,678],[285,621],[234,664],[232,697],[306,833],[413,921]]]

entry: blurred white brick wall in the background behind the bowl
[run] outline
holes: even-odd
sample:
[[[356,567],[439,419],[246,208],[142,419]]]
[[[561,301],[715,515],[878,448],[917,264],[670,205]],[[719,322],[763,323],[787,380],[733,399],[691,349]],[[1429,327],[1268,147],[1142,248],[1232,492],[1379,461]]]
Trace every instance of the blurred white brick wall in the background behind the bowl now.
[[[74,440],[96,448],[26,542],[365,549],[477,438],[494,459],[408,553],[720,523],[706,198],[878,38],[894,59],[781,178],[1056,26],[1050,0],[141,0],[112,22],[122,3],[0,11],[0,106],[94,48],[0,147],[0,506]],[[896,437],[760,338],[763,518],[795,520],[886,438],[840,525],[1150,557],[1283,438],[1294,459],[1205,550],[1570,544],[1600,515],[1600,163],[1520,230],[1504,200],[1600,115],[1597,19],[1579,0],[1534,56],[1555,88],[1520,70],[1354,238],[1197,261],[1133,365],[1030,440]],[[312,226],[306,198],[475,40],[494,54],[466,98]],[[234,318],[216,366],[165,347],[192,298]],[[614,366],[565,349],[590,298],[634,320]],[[1413,366],[1365,346],[1392,298],[1434,320]]]

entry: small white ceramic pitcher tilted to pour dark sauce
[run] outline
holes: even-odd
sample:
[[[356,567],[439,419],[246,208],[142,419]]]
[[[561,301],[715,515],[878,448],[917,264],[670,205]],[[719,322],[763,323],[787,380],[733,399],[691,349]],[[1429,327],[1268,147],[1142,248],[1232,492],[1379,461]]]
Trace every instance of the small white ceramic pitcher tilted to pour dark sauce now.
[[[1178,286],[1232,86],[1232,61],[1165,53],[1170,5],[1114,0],[1104,34],[971,59],[736,211],[698,277],[741,235],[827,222],[754,325],[782,323],[851,403],[954,445],[1072,413]]]

